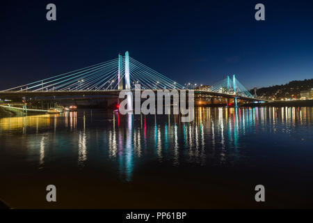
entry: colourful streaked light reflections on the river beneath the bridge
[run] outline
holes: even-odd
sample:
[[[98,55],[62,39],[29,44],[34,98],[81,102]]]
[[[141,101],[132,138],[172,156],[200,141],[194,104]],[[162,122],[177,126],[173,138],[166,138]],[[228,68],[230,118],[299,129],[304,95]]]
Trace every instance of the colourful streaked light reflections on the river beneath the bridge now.
[[[0,118],[0,154],[2,159],[19,155],[19,162],[38,169],[53,167],[64,157],[66,165],[79,169],[105,164],[131,181],[134,168],[155,160],[174,167],[248,165],[257,159],[257,144],[310,148],[312,118],[312,107],[198,107],[191,123],[180,122],[177,115],[121,116],[89,109]]]

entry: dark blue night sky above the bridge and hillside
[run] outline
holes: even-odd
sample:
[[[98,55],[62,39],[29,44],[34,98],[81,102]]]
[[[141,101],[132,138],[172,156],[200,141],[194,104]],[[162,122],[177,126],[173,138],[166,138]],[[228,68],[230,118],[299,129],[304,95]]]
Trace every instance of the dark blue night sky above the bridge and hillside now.
[[[313,78],[313,1],[1,1],[0,89],[129,55],[180,84]],[[46,20],[55,3],[57,21]],[[266,21],[255,20],[264,3]]]

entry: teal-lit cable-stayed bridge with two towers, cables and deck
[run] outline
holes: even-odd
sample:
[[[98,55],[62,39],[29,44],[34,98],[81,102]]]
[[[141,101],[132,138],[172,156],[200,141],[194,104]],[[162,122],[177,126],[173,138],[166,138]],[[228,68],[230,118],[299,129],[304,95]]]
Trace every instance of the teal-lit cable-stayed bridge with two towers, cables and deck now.
[[[178,82],[136,61],[126,52],[125,56],[118,55],[117,59],[98,63],[61,75],[41,79],[29,84],[16,86],[0,91],[0,98],[8,96],[58,96],[58,95],[116,95],[127,89],[134,91],[135,85],[140,84],[141,90],[188,90]],[[216,95],[225,98],[243,100],[259,100],[235,78],[228,77],[203,89],[195,89],[200,95]]]

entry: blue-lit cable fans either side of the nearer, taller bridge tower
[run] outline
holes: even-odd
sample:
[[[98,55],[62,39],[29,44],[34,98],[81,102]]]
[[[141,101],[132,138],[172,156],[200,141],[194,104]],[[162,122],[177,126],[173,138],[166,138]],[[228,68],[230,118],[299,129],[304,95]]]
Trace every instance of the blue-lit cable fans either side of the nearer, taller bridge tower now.
[[[118,63],[119,59],[113,59],[5,91],[116,90],[120,82],[125,85],[125,56],[121,57],[120,66]],[[129,57],[129,73],[131,89],[135,89],[135,84],[140,84],[141,89],[184,89],[182,85],[131,57]]]

